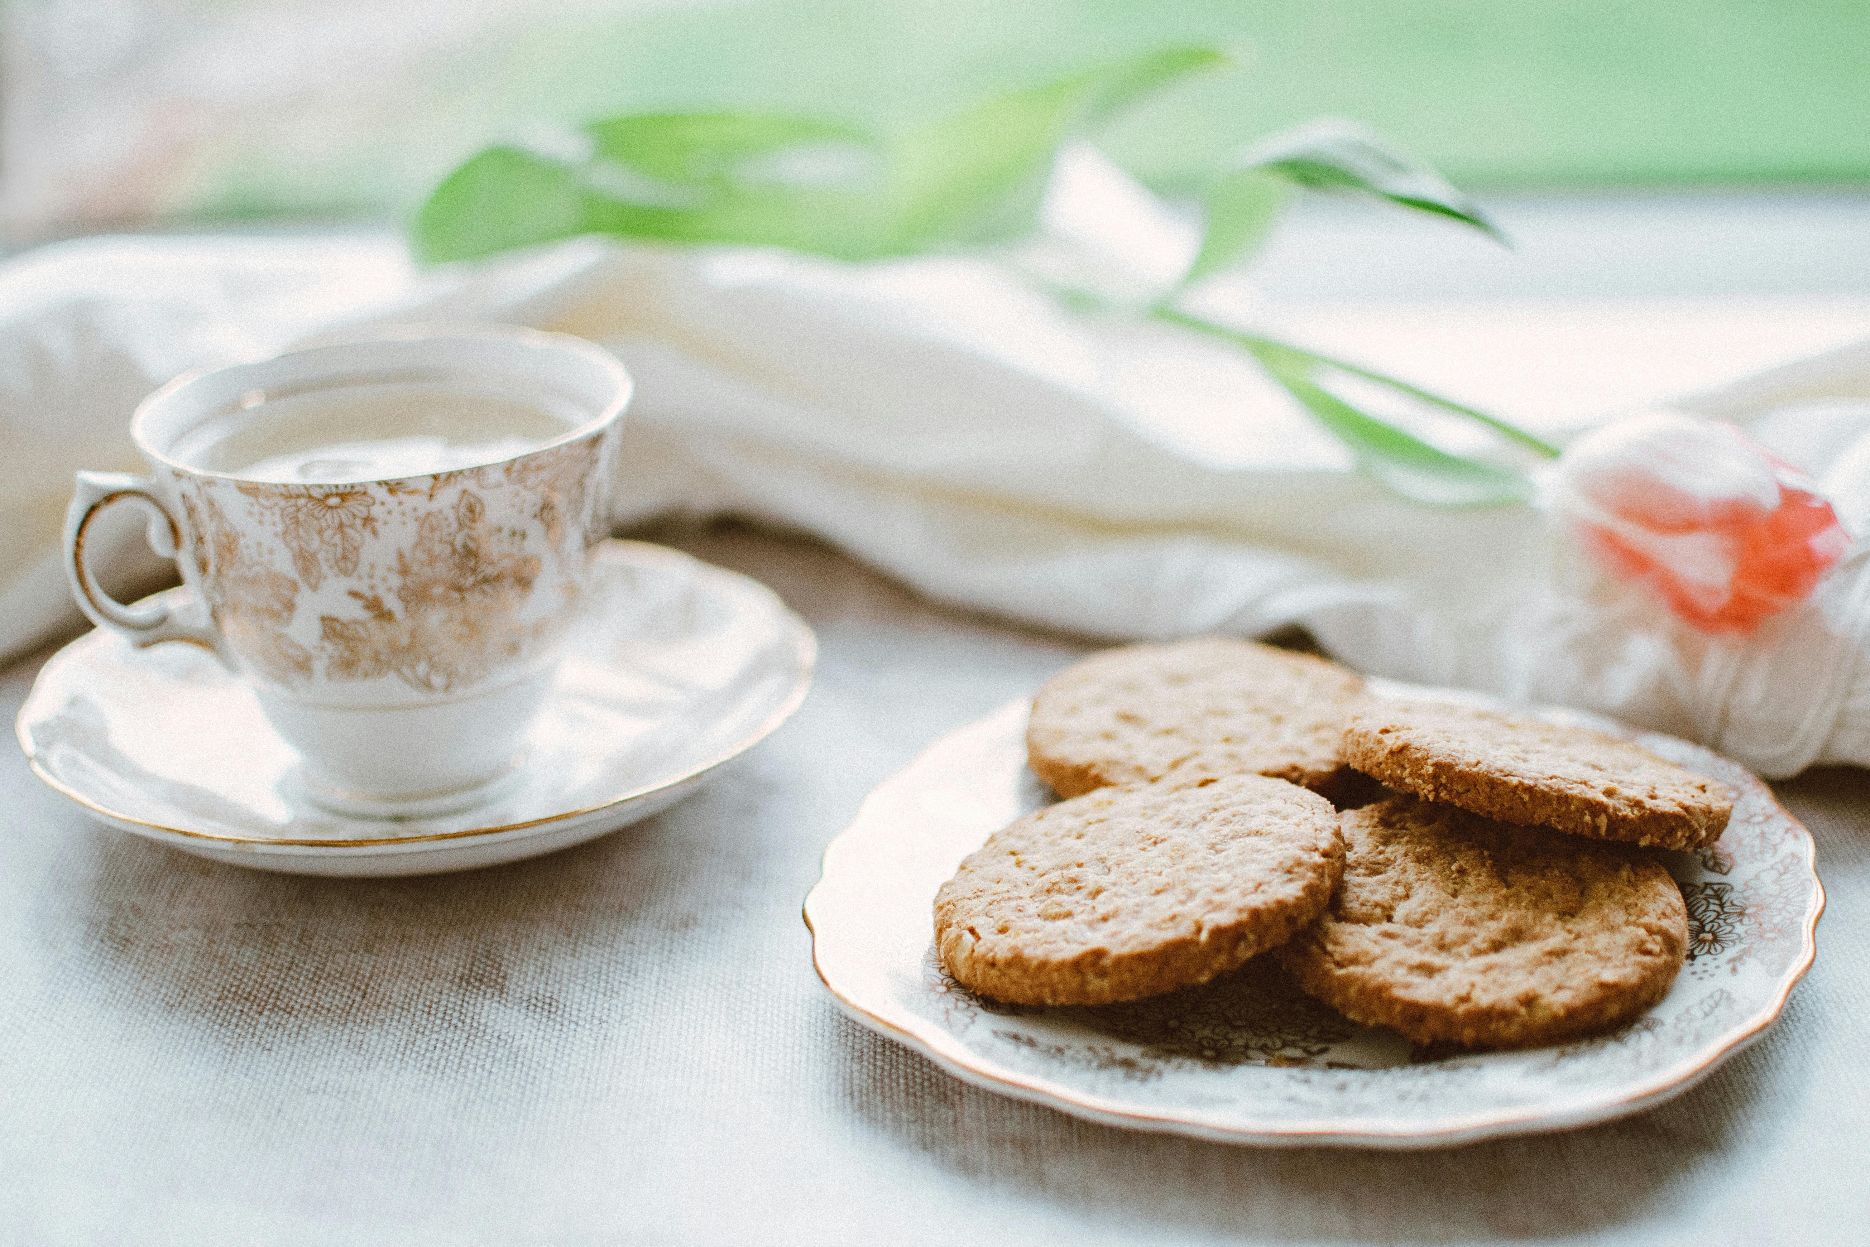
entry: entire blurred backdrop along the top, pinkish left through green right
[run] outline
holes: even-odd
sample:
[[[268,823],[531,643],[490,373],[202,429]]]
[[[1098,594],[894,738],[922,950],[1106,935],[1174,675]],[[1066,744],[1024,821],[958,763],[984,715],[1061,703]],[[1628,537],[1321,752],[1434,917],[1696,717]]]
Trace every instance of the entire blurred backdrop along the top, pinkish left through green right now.
[[[1870,0],[105,7],[110,24],[95,0],[4,6],[15,73],[0,170],[13,221],[30,224],[30,209],[54,221],[400,217],[479,146],[552,123],[757,105],[894,127],[1182,41],[1230,47],[1240,67],[1109,136],[1111,153],[1161,189],[1320,112],[1369,122],[1483,193],[1870,183]],[[142,21],[135,37],[131,19]],[[122,99],[138,92],[166,99],[125,122]],[[90,129],[86,108],[101,110]],[[135,155],[133,176],[47,179],[73,151],[112,142]],[[69,191],[80,183],[88,194]]]

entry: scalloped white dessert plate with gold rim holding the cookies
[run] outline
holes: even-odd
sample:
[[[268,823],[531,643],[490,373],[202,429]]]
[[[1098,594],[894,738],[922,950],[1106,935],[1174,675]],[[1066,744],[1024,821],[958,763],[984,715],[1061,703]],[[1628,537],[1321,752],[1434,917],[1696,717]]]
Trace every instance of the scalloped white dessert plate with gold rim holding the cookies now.
[[[1373,681],[1378,695],[1503,705]],[[1573,710],[1735,793],[1720,841],[1662,854],[1689,903],[1689,961],[1646,1015],[1518,1053],[1412,1049],[1300,993],[1259,957],[1186,991],[1101,1008],[971,995],[931,948],[935,890],[985,838],[1051,800],[1027,770],[1027,701],[937,740],[879,785],[806,897],[819,978],[862,1025],[987,1090],[1135,1129],[1242,1144],[1434,1148],[1638,1112],[1704,1079],[1778,1017],[1812,965],[1812,838],[1739,763]]]

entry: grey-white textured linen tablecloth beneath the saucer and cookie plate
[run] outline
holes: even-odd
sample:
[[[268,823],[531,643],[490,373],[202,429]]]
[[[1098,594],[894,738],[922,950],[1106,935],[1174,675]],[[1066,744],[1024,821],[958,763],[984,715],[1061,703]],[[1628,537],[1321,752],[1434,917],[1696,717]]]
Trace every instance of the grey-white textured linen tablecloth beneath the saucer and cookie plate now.
[[[798,716],[688,802],[404,881],[215,866],[0,757],[0,1243],[1842,1243],[1870,1111],[1870,778],[1778,785],[1818,965],[1683,1097],[1429,1154],[1260,1152],[967,1086],[847,1021],[798,920],[933,737],[1085,652],[821,548],[681,538],[817,628]],[[13,714],[37,660],[0,675]]]

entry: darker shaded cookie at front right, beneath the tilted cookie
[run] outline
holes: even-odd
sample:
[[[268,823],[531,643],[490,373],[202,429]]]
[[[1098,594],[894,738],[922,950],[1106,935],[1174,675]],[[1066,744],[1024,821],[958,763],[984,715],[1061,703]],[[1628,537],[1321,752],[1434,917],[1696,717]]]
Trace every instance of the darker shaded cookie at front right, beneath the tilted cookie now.
[[[1345,881],[1279,961],[1359,1023],[1558,1043],[1644,1011],[1681,968],[1689,910],[1640,853],[1414,796],[1346,811],[1343,830]]]

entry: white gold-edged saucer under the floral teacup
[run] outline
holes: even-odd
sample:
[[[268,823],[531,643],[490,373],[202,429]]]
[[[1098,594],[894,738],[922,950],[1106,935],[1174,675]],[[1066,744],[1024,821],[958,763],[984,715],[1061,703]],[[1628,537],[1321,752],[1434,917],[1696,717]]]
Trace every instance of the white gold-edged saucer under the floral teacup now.
[[[520,774],[454,813],[385,821],[310,804],[297,753],[198,645],[82,636],[39,671],[17,735],[58,793],[183,853],[299,875],[426,875],[647,819],[785,722],[812,684],[804,621],[759,581],[677,550],[604,542],[583,602]]]

